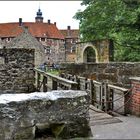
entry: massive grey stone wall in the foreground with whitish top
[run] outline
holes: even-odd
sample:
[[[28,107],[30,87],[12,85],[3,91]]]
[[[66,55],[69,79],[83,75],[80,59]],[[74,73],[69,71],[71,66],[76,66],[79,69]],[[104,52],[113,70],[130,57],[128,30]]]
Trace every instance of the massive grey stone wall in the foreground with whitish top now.
[[[88,137],[88,109],[89,97],[85,91],[2,94],[0,139]]]

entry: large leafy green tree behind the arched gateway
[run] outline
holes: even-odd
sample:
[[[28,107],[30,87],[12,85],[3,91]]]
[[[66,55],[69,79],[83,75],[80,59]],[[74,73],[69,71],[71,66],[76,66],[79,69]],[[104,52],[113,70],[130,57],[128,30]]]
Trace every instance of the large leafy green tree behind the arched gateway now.
[[[110,39],[115,58],[140,61],[140,1],[83,0],[84,11],[76,13],[83,41]]]

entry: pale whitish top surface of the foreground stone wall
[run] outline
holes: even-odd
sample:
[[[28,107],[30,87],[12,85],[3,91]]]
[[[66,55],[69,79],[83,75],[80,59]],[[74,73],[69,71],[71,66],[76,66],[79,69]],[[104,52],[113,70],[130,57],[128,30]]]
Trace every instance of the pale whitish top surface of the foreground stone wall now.
[[[81,90],[54,90],[50,92],[32,92],[20,94],[1,94],[0,104],[7,104],[10,102],[22,102],[26,100],[57,100],[59,98],[77,98],[87,96],[85,91]]]

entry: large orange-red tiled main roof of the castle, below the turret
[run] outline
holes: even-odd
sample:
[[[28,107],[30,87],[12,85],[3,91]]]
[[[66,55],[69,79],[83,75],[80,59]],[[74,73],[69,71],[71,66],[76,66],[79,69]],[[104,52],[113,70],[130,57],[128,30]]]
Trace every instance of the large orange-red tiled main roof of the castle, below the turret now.
[[[28,26],[29,32],[34,37],[47,36],[48,38],[64,39],[63,34],[52,23],[23,22],[23,26]],[[0,24],[0,37],[16,37],[21,32],[22,28],[18,22]]]

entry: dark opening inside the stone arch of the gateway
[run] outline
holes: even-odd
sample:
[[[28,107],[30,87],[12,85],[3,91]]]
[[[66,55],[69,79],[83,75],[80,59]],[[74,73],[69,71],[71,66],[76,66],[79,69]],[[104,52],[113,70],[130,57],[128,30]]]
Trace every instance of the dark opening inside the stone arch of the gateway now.
[[[84,49],[83,62],[96,62],[96,52],[92,46],[88,46]]]

